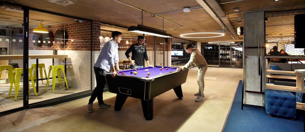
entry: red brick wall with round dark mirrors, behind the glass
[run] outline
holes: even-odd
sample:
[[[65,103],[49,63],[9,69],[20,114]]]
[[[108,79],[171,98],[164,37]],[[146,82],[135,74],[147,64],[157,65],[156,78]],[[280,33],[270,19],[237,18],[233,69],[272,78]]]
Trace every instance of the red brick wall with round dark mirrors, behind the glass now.
[[[96,23],[96,21],[95,21]],[[100,25],[98,23],[98,25]],[[41,47],[34,46],[33,44],[33,29],[29,29],[29,50],[91,50],[91,22],[84,21],[83,23],[73,22],[67,24],[51,25],[44,26],[48,31],[52,31],[54,34],[56,30],[66,30],[68,32],[68,43],[65,46],[53,46],[48,47],[42,45]],[[95,26],[97,27],[97,26]],[[94,30],[95,36],[99,33],[96,33]],[[74,40],[73,42],[71,40]],[[81,40],[81,41],[76,41]],[[95,42],[95,41],[93,41]],[[52,42],[51,42],[52,43]]]

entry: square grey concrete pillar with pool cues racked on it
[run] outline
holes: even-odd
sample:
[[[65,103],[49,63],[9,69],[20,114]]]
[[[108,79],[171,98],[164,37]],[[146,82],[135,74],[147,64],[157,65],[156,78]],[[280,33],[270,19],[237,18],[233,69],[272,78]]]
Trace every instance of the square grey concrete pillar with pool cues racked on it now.
[[[244,46],[245,47],[258,47],[259,42],[264,46],[265,42],[265,24],[264,24],[264,11],[244,13]],[[260,39],[260,40],[258,40]],[[264,58],[264,49],[261,50]],[[264,75],[265,75],[265,60],[260,59],[262,65],[262,75],[259,76],[259,55],[258,48],[245,48],[244,51],[247,58],[245,63],[245,91],[260,92],[260,84],[262,80],[262,89],[264,92]],[[263,78],[263,79],[260,79]],[[244,92],[244,103],[250,105],[263,106],[264,95],[257,93]]]

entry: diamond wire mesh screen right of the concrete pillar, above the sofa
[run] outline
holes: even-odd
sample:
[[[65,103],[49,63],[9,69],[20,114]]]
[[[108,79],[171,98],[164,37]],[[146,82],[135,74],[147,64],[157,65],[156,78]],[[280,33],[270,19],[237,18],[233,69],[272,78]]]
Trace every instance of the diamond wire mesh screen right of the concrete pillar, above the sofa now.
[[[294,48],[294,16],[305,10],[265,13],[266,55],[304,55],[304,48]]]

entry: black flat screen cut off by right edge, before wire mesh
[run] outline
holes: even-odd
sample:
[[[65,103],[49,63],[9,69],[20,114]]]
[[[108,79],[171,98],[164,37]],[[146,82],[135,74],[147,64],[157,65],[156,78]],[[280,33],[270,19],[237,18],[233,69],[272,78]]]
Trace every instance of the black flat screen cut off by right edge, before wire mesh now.
[[[294,48],[305,48],[305,14],[294,16]]]

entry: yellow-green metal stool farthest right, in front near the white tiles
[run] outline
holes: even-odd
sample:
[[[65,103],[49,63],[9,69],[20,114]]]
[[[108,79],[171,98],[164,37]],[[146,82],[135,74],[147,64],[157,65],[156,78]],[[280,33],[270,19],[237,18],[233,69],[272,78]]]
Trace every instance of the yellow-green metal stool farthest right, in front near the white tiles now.
[[[55,84],[56,84],[56,72],[57,72],[57,76],[58,76],[59,88],[61,88],[61,82],[66,82],[67,89],[69,89],[68,83],[67,83],[67,78],[66,78],[66,73],[65,73],[65,66],[64,65],[50,65],[49,74],[48,74],[48,78],[47,78],[47,84],[45,85],[45,90],[47,90],[47,86],[49,84],[49,78],[50,78],[51,70],[52,70],[53,93],[54,93]],[[60,70],[63,70],[63,77],[65,78],[65,81],[61,81],[61,71]]]

